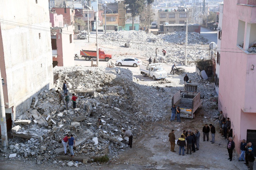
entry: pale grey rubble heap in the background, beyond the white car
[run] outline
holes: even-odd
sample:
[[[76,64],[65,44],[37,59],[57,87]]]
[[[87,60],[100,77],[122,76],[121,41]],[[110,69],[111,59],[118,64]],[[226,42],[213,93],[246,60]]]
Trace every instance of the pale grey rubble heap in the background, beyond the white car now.
[[[123,46],[125,42],[130,41],[134,43],[131,48],[145,51],[141,55],[146,58],[154,58],[155,49],[158,47],[157,59],[164,63],[183,63],[185,59],[185,32],[154,35],[144,31],[114,31],[102,35],[100,39],[100,43],[114,46]],[[209,57],[207,45],[202,45],[206,42],[199,33],[188,33],[188,61]],[[166,50],[166,56],[163,56],[162,49]],[[121,58],[123,56],[118,54],[115,56],[115,59]]]

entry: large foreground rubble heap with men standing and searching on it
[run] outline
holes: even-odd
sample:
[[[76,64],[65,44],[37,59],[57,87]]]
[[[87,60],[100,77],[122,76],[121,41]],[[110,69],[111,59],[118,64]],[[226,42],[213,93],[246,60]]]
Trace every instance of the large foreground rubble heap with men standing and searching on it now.
[[[167,99],[164,95],[159,98],[162,88],[143,86],[132,79],[128,69],[55,67],[55,88],[40,92],[31,108],[15,120],[12,135],[21,138],[9,140],[5,156],[16,154],[12,157],[37,160],[38,164],[54,162],[57,155],[64,153],[61,140],[68,134],[76,140],[76,155],[117,156],[129,140],[123,140],[122,129],[131,130],[136,140],[142,134],[144,121],[164,119],[167,112],[159,105]],[[69,96],[78,96],[75,109],[71,101],[69,110],[59,104],[56,90],[62,89],[65,80]],[[97,127],[98,117],[104,124],[102,129]]]

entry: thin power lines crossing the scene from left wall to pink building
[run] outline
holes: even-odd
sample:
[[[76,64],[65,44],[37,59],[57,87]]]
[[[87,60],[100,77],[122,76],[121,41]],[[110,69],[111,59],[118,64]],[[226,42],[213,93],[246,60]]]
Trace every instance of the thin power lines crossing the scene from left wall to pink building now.
[[[0,20],[3,20],[3,21],[8,21],[8,20],[4,20],[4,19],[0,19]],[[8,21],[8,22],[14,22],[14,21]],[[8,23],[8,22],[5,22],[5,23]],[[4,23],[4,22],[3,22]],[[29,24],[25,24],[25,23],[20,23],[20,22],[14,22],[14,23],[19,23],[19,24],[24,24],[24,25],[28,25],[28,26],[34,26],[34,25],[29,25]],[[13,23],[10,23],[10,24],[13,24]],[[20,25],[18,25],[20,26]],[[21,27],[21,26],[20,26]],[[45,29],[49,29],[49,28],[46,28],[46,27],[41,27],[41,26],[34,26],[34,27],[40,27],[40,28],[45,28]],[[29,27],[30,28],[30,27]],[[51,28],[50,28],[51,29]],[[54,28],[53,28],[54,29]],[[73,34],[73,31],[65,31],[65,32],[71,32]],[[75,35],[75,34],[73,34]],[[90,34],[91,36],[96,36],[94,34]],[[110,36],[106,36],[105,34],[103,35],[98,35],[99,37],[109,37],[109,38],[115,38],[115,37],[110,37]],[[119,39],[123,39],[123,40],[134,40],[134,41],[142,41],[142,42],[148,42],[148,41],[145,41],[145,40],[135,40],[135,39],[125,39],[125,38],[119,38]],[[150,43],[150,42],[149,42]],[[152,42],[153,43],[153,42]],[[162,42],[161,44],[171,44],[171,45],[179,45],[179,44],[173,44],[173,43],[165,43],[165,42]],[[188,46],[198,46],[198,47],[202,47],[200,45],[188,45]],[[221,47],[219,47],[221,48]],[[188,48],[189,49],[189,48]],[[237,48],[222,48],[222,49],[231,49],[231,50],[239,50]]]

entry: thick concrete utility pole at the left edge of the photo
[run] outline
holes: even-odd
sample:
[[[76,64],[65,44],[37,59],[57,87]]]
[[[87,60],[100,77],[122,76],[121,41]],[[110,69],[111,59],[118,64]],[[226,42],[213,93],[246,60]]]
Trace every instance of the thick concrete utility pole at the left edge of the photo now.
[[[1,70],[0,70],[0,125],[1,125],[1,137],[2,137],[2,147],[3,151],[6,152],[8,147],[8,139],[7,139],[7,128],[6,128],[6,118],[5,118],[5,108],[4,108],[4,93],[3,93],[3,85],[1,78]]]

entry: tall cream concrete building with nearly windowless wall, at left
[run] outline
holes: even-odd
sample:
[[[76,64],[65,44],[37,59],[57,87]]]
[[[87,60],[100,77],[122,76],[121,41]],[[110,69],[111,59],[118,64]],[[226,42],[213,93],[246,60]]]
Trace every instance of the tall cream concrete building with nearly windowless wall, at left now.
[[[0,11],[6,20],[0,23],[0,69],[8,127],[34,96],[53,87],[50,19],[47,1],[1,1]]]

